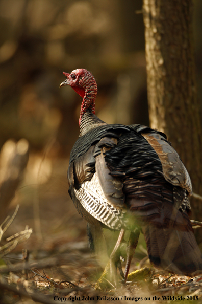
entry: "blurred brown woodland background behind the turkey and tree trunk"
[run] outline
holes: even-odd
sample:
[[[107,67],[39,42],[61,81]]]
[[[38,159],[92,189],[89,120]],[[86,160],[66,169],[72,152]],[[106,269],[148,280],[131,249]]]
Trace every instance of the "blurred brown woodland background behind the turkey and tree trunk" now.
[[[92,72],[100,119],[149,124],[141,9],[142,0],[0,0],[1,163],[14,141],[24,138],[30,145],[27,169],[2,220],[20,204],[8,233],[32,227],[26,248],[36,255],[86,244],[86,223],[69,198],[66,178],[82,98],[69,87],[59,89],[62,72]],[[200,100],[201,15],[202,2],[195,0]]]

